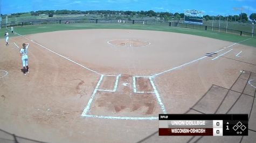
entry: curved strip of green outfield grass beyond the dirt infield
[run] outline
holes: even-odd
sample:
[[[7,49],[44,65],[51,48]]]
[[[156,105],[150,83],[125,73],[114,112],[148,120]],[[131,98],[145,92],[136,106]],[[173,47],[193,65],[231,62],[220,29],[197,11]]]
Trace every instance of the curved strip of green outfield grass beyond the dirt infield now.
[[[198,35],[204,37],[210,37],[213,39],[219,39],[230,42],[239,42],[245,39],[248,39],[247,36],[240,36],[234,34],[227,34],[222,32],[214,31],[205,31],[200,29],[191,29],[191,28],[181,28],[181,27],[169,27],[169,26],[154,26],[154,25],[119,25],[119,24],[45,24],[45,25],[32,25],[32,26],[23,26],[15,27],[15,31],[19,34],[34,34],[42,32],[52,32],[52,31],[65,31],[65,30],[74,30],[74,29],[141,29],[149,31],[163,31],[163,32],[175,32],[175,33],[184,33],[191,35]],[[0,35],[4,35],[5,29],[0,31]],[[10,33],[10,31],[8,31]],[[10,37],[17,36],[10,33]],[[3,38],[4,36],[2,36]],[[247,40],[241,44],[247,46],[256,47],[256,35],[253,39]]]

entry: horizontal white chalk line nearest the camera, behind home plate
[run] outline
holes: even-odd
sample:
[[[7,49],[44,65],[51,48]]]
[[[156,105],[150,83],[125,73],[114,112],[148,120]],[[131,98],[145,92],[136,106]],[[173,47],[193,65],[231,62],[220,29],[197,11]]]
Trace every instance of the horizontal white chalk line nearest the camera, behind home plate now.
[[[105,119],[126,119],[126,120],[156,120],[158,117],[115,117],[115,116],[99,116],[99,115],[82,115],[84,117],[105,118]]]

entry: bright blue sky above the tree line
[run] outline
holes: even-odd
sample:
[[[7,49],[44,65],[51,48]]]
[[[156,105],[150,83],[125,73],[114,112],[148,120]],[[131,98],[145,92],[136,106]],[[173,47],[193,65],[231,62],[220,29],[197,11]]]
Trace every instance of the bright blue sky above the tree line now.
[[[38,10],[122,10],[184,13],[184,10],[203,11],[210,16],[256,13],[256,0],[1,0],[2,14]],[[248,11],[249,10],[249,11]]]

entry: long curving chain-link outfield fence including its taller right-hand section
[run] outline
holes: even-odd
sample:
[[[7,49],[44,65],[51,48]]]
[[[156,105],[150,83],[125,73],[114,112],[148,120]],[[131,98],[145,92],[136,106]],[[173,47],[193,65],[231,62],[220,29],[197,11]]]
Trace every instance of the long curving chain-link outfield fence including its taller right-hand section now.
[[[157,20],[129,20],[129,19],[120,19],[122,22],[120,24],[125,25],[152,25],[152,26],[170,26],[170,27],[183,27],[183,28],[193,28],[207,31],[215,31],[215,32],[224,32],[229,34],[236,34],[241,36],[254,36],[254,25],[249,24],[229,24],[228,26],[224,25],[222,21],[217,25],[218,21],[210,21],[204,22],[203,25],[194,25],[194,24],[185,24],[183,21],[157,21]],[[43,25],[43,24],[74,24],[74,23],[82,23],[82,24],[117,24],[118,19],[86,19],[84,17],[68,19],[68,18],[51,18],[51,19],[40,19],[40,20],[31,20],[27,19],[22,22],[10,22],[7,24],[2,24],[2,27],[11,27],[11,26],[24,26],[24,25]],[[255,37],[255,36],[254,36]]]

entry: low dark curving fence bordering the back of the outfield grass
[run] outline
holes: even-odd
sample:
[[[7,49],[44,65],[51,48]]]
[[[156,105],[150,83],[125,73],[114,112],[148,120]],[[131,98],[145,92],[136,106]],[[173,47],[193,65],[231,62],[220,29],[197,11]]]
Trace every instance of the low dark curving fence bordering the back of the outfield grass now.
[[[248,31],[241,31],[239,29],[230,29],[230,28],[223,28],[223,27],[216,27],[216,26],[209,26],[209,24],[206,25],[194,25],[194,24],[185,24],[183,22],[179,21],[153,21],[153,20],[126,20],[121,19],[122,25],[142,25],[142,22],[144,21],[144,25],[155,25],[155,26],[170,26],[170,27],[183,27],[183,28],[192,28],[192,29],[200,29],[200,30],[206,30],[206,31],[215,31],[215,32],[224,32],[229,34],[236,34],[241,36],[251,36],[254,37],[254,32],[248,32]],[[123,20],[125,21],[123,24]],[[45,20],[27,20],[23,22],[17,22],[17,23],[8,23],[7,27],[11,26],[25,26],[25,25],[42,25],[42,24],[65,24],[65,22],[68,21],[69,24],[74,23],[81,23],[81,24],[118,24],[117,19],[67,19],[67,18],[59,18],[59,19],[45,19]],[[5,24],[2,24],[2,27],[5,27]],[[255,31],[255,30],[254,30]]]

